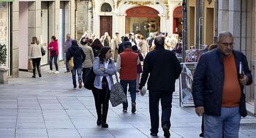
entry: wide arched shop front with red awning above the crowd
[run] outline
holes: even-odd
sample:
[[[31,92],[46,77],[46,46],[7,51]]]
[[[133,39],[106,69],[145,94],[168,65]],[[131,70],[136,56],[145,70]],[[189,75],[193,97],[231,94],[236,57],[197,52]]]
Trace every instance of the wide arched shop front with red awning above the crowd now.
[[[151,7],[134,7],[127,10],[125,33],[141,33],[148,37],[151,32],[159,32],[159,12]]]

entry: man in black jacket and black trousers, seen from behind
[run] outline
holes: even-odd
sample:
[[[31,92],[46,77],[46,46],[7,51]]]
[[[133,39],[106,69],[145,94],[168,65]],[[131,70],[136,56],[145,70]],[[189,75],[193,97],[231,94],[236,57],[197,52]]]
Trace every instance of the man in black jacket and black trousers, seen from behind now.
[[[149,52],[143,63],[143,73],[139,89],[148,79],[149,113],[151,119],[151,135],[157,136],[159,128],[159,100],[162,105],[162,129],[165,137],[170,137],[170,113],[175,92],[175,81],[181,73],[181,65],[173,52],[166,50],[165,38],[157,36],[154,40],[156,48]],[[148,78],[148,73],[150,76]]]

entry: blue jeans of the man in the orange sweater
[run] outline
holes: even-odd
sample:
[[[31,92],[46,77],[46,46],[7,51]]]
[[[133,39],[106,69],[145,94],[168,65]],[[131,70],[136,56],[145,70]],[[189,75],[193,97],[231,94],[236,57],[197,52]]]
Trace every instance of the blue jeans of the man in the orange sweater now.
[[[222,107],[221,116],[204,115],[204,137],[238,138],[241,115],[239,107]]]

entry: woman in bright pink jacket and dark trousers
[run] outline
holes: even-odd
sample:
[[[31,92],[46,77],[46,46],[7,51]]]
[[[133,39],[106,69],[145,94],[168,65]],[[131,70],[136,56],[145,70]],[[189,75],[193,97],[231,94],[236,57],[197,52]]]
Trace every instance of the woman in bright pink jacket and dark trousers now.
[[[51,36],[50,44],[48,45],[47,49],[50,52],[50,70],[48,73],[56,73],[59,74],[59,67],[58,67],[58,55],[59,55],[59,44],[58,40],[56,39],[56,36]],[[54,57],[54,64],[56,71],[53,72],[53,57]]]

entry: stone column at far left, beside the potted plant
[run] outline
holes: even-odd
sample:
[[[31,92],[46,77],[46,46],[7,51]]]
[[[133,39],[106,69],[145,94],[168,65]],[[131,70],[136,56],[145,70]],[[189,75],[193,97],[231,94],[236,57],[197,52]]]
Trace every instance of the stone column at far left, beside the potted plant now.
[[[10,36],[12,36],[12,57],[11,57],[11,76],[18,77],[18,43],[19,43],[19,1],[12,2],[12,30]]]

